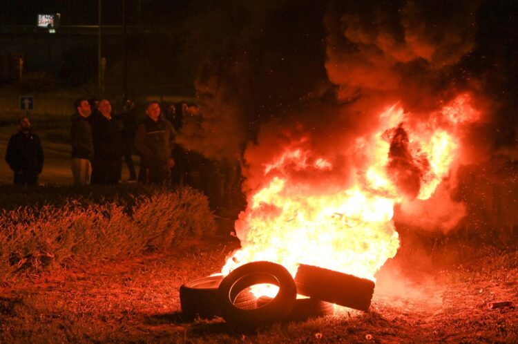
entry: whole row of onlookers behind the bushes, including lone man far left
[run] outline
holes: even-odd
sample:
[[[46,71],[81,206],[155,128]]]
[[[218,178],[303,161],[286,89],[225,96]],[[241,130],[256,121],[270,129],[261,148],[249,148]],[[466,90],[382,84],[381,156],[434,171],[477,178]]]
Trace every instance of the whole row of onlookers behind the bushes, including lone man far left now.
[[[135,103],[129,100],[117,115],[106,99],[77,99],[74,110],[70,117],[74,184],[117,184],[122,178],[124,159],[128,182],[190,185],[204,191],[216,207],[231,205],[231,189],[238,188],[237,166],[222,168],[218,162],[175,143],[182,117],[189,111],[186,104],[181,113],[176,112],[175,104],[166,106],[162,113],[159,102],[148,102],[140,122]],[[133,153],[140,155],[138,174]],[[38,183],[44,153],[28,117],[19,120],[19,133],[8,142],[6,161],[15,173],[15,184]]]

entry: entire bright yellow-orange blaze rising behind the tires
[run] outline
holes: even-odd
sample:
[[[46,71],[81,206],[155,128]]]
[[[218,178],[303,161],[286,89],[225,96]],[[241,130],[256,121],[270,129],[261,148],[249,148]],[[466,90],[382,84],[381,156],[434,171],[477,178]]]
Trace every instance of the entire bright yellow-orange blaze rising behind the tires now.
[[[363,157],[363,164],[355,166],[356,180],[345,190],[314,193],[314,186],[303,184],[307,180],[296,180],[294,171],[318,174],[334,169],[332,159],[308,149],[310,137],[281,147],[264,165],[262,187],[249,195],[247,209],[236,221],[242,248],[227,260],[222,273],[268,260],[292,275],[303,263],[374,280],[399,248],[394,205],[404,198],[430,198],[457,160],[458,126],[477,116],[468,95],[460,95],[424,122],[399,104],[390,106],[379,115],[376,131],[343,148]]]

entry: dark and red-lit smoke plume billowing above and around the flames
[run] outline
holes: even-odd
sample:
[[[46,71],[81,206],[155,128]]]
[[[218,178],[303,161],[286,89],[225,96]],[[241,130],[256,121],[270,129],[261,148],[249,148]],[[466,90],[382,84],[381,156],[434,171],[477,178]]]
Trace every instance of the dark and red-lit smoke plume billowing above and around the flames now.
[[[241,4],[230,14],[240,18],[236,27],[200,70],[201,123],[184,145],[214,159],[242,156],[247,192],[283,174],[300,187],[317,180],[316,190],[346,188],[372,163],[368,149],[353,148],[358,137],[378,128],[388,106],[399,104],[408,122],[440,127],[450,116],[441,108],[466,93],[480,115],[458,120],[456,169],[515,152],[517,7],[445,0]],[[469,202],[457,189],[466,173],[452,173],[429,200],[415,200],[430,162],[412,153],[405,126],[396,122],[392,130],[387,171],[407,195],[399,221],[444,232],[455,227]],[[314,152],[303,157],[306,166],[322,158],[333,167],[273,166],[265,177],[265,166],[289,160],[288,148]]]

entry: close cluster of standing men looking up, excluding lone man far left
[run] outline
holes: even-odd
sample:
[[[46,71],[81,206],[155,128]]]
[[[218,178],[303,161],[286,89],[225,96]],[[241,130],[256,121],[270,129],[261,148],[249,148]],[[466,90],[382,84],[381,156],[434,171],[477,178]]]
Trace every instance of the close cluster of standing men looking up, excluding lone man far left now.
[[[137,123],[131,101],[126,102],[123,113],[113,115],[106,99],[78,99],[70,129],[74,183],[116,184],[121,179],[123,157],[129,181],[169,182],[175,164],[175,128],[163,118],[158,102],[148,102],[145,113],[144,121]],[[134,149],[140,154],[138,178]]]

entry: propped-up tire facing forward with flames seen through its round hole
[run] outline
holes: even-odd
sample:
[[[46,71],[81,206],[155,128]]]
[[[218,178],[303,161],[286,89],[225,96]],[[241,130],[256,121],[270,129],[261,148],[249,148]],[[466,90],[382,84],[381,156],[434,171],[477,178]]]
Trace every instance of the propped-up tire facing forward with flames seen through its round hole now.
[[[279,291],[262,307],[240,308],[239,294],[252,285],[277,285]],[[256,327],[280,321],[291,312],[296,301],[295,283],[287,269],[274,262],[250,262],[233,270],[218,288],[222,316],[228,323]]]

